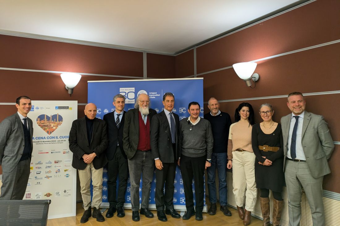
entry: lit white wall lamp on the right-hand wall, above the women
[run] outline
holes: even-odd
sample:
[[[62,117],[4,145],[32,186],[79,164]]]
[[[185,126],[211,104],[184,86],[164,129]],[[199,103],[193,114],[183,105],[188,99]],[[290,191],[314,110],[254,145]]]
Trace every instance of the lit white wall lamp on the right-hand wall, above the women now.
[[[256,68],[257,63],[254,62],[244,62],[244,63],[235,63],[233,64],[233,68],[241,79],[245,81],[245,84],[247,86],[250,86],[250,88],[255,88],[251,87],[252,82],[251,79],[255,82],[259,79],[259,75],[257,73],[254,73],[255,68]],[[254,74],[253,74],[254,73]]]

